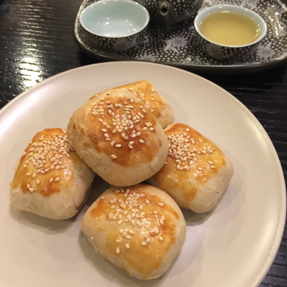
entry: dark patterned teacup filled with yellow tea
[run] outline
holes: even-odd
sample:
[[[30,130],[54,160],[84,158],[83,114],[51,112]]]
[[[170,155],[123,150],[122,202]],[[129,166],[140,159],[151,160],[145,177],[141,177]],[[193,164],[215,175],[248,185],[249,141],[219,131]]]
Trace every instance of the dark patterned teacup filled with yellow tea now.
[[[230,15],[231,21],[227,22],[226,15]],[[203,33],[201,25],[204,20],[211,19],[211,16],[217,16],[217,23],[220,25],[215,25],[216,22],[209,20],[210,29],[208,33]],[[244,23],[243,30],[236,29],[236,25],[232,22],[237,23],[239,28]],[[253,26],[246,26],[251,22]],[[194,19],[194,28],[198,46],[207,55],[219,60],[238,60],[247,57],[259,47],[267,33],[267,25],[260,15],[248,8],[230,4],[214,5],[202,10]],[[217,38],[214,38],[215,34]]]

